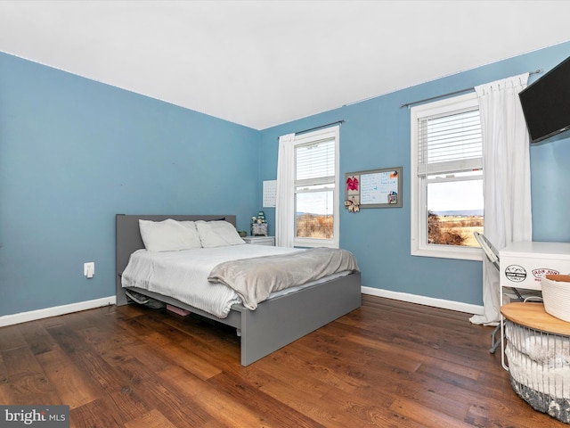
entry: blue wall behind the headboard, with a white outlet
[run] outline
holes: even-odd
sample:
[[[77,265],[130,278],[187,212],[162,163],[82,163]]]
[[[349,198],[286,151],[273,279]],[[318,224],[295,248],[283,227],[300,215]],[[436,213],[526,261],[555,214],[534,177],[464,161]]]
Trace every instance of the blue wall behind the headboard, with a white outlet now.
[[[114,295],[116,213],[247,228],[258,145],[255,129],[0,53],[0,316]]]

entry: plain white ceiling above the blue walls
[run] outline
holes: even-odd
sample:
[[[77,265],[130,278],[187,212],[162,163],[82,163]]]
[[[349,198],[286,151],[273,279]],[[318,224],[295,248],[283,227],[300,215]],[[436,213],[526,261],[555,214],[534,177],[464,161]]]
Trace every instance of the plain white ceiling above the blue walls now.
[[[0,1],[0,51],[263,129],[570,40],[569,1]]]

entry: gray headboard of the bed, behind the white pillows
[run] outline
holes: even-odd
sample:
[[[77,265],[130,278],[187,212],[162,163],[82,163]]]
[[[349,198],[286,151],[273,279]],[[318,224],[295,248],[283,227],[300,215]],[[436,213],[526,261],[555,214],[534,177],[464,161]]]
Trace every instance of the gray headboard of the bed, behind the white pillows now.
[[[115,216],[115,257],[117,263],[117,270],[116,270],[116,296],[117,296],[117,305],[125,305],[126,304],[126,295],[123,291],[123,287],[121,286],[121,278],[120,274],[126,268],[126,264],[128,263],[128,259],[134,251],[140,250],[144,248],[144,244],[142,243],[141,232],[139,230],[139,219],[142,220],[151,220],[151,221],[162,221],[166,220],[167,218],[172,218],[178,221],[196,221],[196,220],[221,220],[224,219],[225,221],[232,223],[235,226],[235,216],[234,215],[167,215],[167,214],[158,214],[158,215],[134,215],[134,214],[117,214]]]

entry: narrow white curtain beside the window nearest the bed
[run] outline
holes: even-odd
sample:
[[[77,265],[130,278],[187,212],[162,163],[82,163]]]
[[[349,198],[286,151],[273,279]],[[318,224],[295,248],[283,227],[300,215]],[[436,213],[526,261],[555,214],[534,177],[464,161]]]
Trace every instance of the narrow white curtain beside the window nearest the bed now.
[[[295,134],[279,137],[275,201],[275,244],[278,247],[293,247],[295,239],[294,144]]]

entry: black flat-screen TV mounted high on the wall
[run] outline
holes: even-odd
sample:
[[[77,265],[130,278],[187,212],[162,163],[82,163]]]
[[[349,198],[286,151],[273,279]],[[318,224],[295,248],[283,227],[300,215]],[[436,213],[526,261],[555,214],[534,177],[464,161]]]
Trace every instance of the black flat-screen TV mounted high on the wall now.
[[[518,96],[531,143],[570,129],[570,57],[527,86]]]

